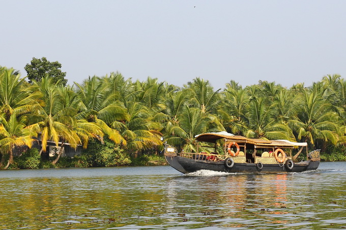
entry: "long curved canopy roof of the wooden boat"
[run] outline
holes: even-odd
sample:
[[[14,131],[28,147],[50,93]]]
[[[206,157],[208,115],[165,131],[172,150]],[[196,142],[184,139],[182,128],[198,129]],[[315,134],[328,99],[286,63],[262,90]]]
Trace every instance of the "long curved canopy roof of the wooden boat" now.
[[[225,138],[227,142],[243,142],[243,143],[249,143],[253,145],[263,145],[263,146],[281,146],[281,147],[294,147],[294,146],[307,146],[306,142],[298,143],[298,142],[291,142],[288,140],[265,140],[265,139],[253,139],[253,138],[246,138],[243,136],[237,136],[234,134],[230,134],[227,132],[218,132],[218,133],[205,133],[205,134],[199,134],[195,136],[196,141],[200,142],[210,142],[215,143],[217,140],[221,138]]]

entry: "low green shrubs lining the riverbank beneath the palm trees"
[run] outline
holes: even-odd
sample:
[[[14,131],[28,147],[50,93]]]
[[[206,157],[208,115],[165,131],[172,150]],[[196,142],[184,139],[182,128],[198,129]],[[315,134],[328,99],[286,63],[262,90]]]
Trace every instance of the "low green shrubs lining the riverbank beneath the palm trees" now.
[[[346,161],[345,152],[345,146],[329,147],[326,152],[321,153],[321,161]],[[297,160],[305,160],[305,157],[304,154],[300,154]],[[44,158],[40,155],[37,148],[31,148],[20,156],[14,157],[11,169],[167,165],[163,155],[156,155],[154,152],[148,151],[133,157],[108,139],[104,140],[104,144],[98,141],[91,141],[88,148],[83,150],[81,154],[74,157],[61,157],[56,165],[51,163],[54,158],[55,156],[49,159]]]

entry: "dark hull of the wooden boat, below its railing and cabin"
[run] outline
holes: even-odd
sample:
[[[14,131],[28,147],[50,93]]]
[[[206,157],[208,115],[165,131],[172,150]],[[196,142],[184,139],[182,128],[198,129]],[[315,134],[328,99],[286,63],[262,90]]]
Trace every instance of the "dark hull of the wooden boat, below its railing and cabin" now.
[[[258,166],[255,163],[234,163],[232,168],[226,167],[224,160],[209,161],[195,160],[181,156],[165,156],[169,165],[181,173],[192,173],[198,170],[211,170],[226,173],[301,173],[305,171],[316,170],[320,161],[306,160],[299,163],[294,163],[292,169],[289,169],[284,164],[263,164]],[[260,169],[261,168],[261,169]]]

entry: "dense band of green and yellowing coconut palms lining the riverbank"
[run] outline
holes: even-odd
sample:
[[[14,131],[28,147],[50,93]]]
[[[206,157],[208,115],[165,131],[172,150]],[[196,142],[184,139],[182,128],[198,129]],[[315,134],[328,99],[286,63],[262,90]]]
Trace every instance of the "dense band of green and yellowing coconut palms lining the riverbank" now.
[[[323,159],[342,160],[345,151],[338,150],[346,141],[345,112],[346,81],[339,75],[325,76],[310,87],[267,81],[243,87],[231,80],[215,90],[200,78],[177,87],[150,77],[132,81],[120,73],[89,77],[73,86],[56,84],[47,75],[28,84],[13,69],[1,68],[1,165],[150,165],[162,163],[161,137],[179,150],[194,151],[195,135],[222,130],[307,142],[311,150],[322,149]],[[38,154],[13,158],[14,147],[30,147],[37,138],[42,145]],[[62,151],[48,158],[51,142],[62,150],[67,144],[85,150],[73,158],[60,159]],[[39,166],[33,154],[42,158]]]

